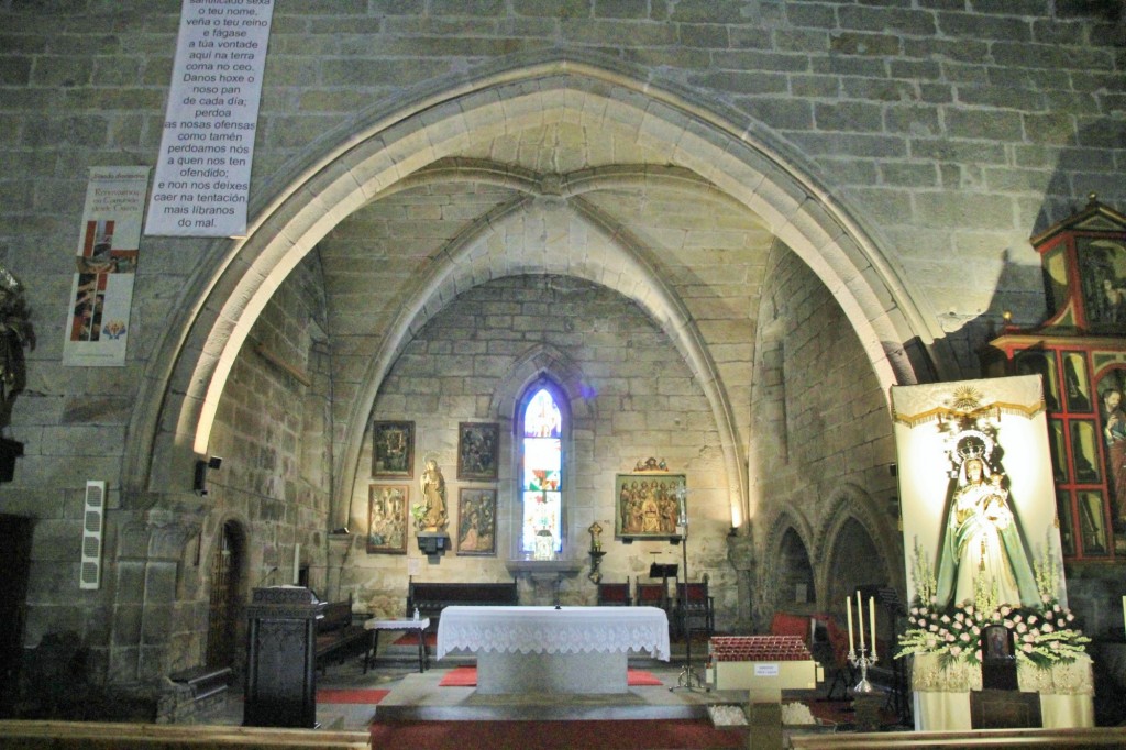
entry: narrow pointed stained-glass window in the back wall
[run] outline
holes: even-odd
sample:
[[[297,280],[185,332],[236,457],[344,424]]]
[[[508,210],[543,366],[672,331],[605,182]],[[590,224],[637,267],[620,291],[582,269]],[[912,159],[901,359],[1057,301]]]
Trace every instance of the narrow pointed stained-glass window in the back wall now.
[[[520,400],[520,550],[535,551],[542,529],[552,534],[555,552],[563,551],[563,438],[566,410],[561,391],[551,382],[534,383]],[[564,403],[565,407],[565,403]]]

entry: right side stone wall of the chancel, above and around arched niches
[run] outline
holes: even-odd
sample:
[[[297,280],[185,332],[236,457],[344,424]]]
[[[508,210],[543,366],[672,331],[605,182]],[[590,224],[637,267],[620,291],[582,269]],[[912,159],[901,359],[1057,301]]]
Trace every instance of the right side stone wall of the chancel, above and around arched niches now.
[[[895,506],[887,503],[896,494],[895,446],[884,394],[840,306],[806,266],[779,247],[767,278],[751,400],[752,520],[762,557],[750,599],[759,628],[776,608],[834,611],[840,590],[904,583]],[[867,529],[877,560],[833,554],[835,532],[850,517]],[[807,602],[778,584],[795,582],[802,546],[813,568]]]

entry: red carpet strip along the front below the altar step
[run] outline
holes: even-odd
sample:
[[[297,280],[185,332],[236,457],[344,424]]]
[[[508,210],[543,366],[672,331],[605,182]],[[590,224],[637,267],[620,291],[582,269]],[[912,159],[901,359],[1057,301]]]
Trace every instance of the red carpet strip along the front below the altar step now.
[[[745,730],[707,720],[591,722],[393,722],[372,724],[372,747],[411,750],[711,750],[745,748]]]

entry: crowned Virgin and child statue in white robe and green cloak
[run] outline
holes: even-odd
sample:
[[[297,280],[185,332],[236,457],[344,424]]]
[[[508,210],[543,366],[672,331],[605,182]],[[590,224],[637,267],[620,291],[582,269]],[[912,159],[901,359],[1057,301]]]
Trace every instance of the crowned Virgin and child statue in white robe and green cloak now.
[[[1039,592],[1006,476],[989,465],[991,440],[975,434],[958,440],[958,476],[950,493],[939,552],[938,605],[977,600],[981,587],[995,604],[1036,606]]]

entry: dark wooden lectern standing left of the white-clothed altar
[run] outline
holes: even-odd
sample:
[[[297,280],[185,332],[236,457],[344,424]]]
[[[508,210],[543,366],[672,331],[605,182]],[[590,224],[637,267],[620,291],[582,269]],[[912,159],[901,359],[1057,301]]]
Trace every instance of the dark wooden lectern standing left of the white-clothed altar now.
[[[254,589],[247,606],[247,726],[316,727],[316,618],[306,588]]]

